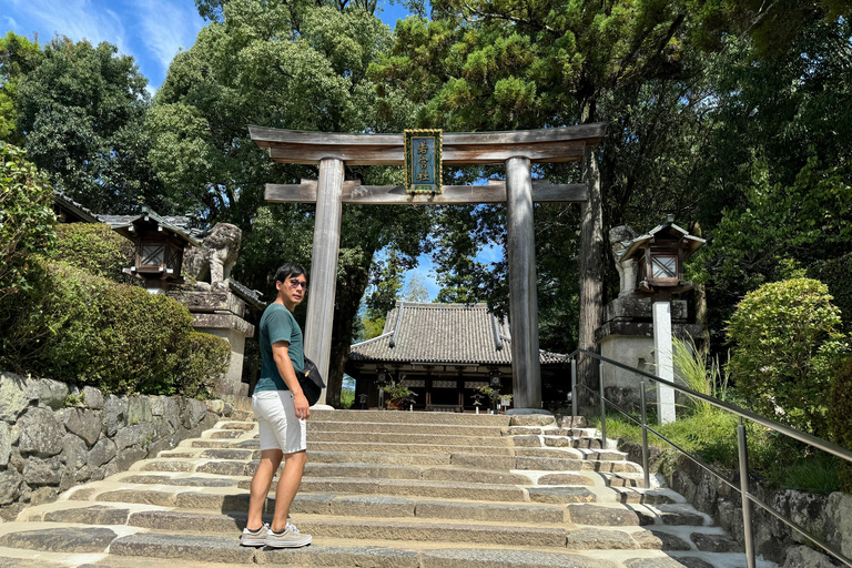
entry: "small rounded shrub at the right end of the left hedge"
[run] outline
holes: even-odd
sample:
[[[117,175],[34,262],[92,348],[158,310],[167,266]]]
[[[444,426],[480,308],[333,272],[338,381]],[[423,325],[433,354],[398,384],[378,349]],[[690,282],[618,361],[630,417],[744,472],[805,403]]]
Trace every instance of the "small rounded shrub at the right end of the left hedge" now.
[[[186,396],[207,398],[227,372],[231,345],[222,337],[193,332],[186,342],[186,356],[178,366],[175,383]]]

